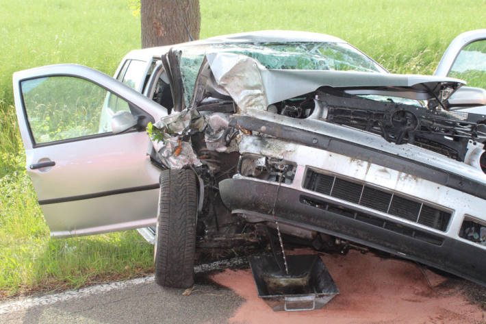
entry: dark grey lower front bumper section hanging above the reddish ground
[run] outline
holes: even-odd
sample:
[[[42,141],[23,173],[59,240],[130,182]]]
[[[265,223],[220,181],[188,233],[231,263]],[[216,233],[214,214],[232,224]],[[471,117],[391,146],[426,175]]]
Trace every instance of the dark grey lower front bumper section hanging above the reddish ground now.
[[[384,218],[359,205],[290,186],[248,178],[219,184],[222,201],[235,214],[248,214],[351,240],[453,273],[486,286],[486,250],[448,232]]]

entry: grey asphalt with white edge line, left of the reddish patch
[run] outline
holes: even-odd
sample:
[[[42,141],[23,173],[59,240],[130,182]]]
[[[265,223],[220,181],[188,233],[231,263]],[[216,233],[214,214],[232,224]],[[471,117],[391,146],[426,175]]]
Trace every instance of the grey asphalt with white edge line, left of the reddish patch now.
[[[196,272],[190,296],[144,277],[0,303],[0,323],[227,323],[243,299],[207,279],[208,270]]]

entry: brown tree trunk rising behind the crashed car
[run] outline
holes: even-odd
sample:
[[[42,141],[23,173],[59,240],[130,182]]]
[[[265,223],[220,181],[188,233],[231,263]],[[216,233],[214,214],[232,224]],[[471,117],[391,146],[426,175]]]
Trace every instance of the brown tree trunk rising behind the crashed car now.
[[[193,39],[199,38],[199,0],[142,0],[140,16],[142,49],[188,42],[189,33]]]

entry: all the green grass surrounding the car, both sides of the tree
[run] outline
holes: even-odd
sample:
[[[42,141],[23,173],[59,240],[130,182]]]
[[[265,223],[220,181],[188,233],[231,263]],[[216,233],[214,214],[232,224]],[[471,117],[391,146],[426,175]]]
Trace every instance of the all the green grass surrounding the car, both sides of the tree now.
[[[296,29],[344,38],[395,73],[433,73],[448,43],[484,27],[486,1],[200,0],[201,38]],[[0,297],[153,271],[134,231],[51,239],[24,171],[12,73],[70,62],[112,74],[140,47],[129,0],[0,0]]]

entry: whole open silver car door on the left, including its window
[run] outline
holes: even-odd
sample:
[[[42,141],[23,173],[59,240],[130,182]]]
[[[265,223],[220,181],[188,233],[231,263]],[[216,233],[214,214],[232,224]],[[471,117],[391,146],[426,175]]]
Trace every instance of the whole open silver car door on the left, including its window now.
[[[86,66],[14,73],[18,126],[51,236],[156,222],[159,169],[144,132],[166,108]]]

